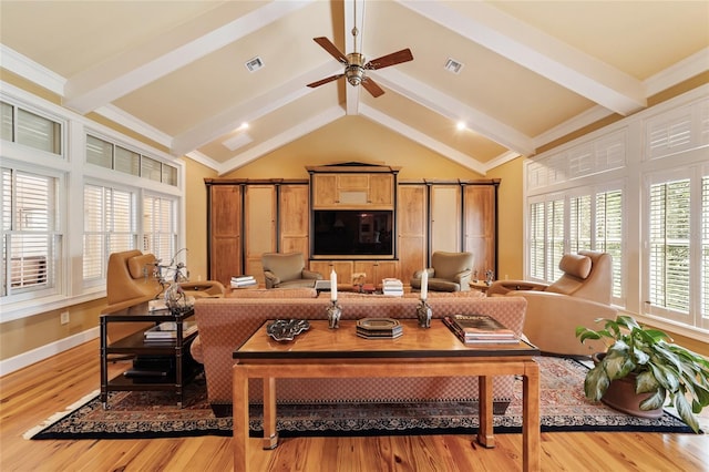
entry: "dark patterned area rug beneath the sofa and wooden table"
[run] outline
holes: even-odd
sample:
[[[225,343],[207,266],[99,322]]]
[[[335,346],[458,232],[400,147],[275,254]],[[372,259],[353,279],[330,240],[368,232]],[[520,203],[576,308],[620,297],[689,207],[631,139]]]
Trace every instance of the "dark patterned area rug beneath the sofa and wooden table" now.
[[[678,418],[666,412],[656,420],[631,417],[583,392],[587,367],[573,359],[538,357],[542,432],[635,431],[689,433]],[[203,379],[188,386],[187,401],[162,392],[112,392],[110,409],[97,396],[28,431],[28,439],[138,439],[191,435],[232,435],[232,418],[216,418],[206,399]],[[470,402],[285,404],[278,407],[277,429],[294,435],[473,434],[477,404]],[[261,408],[250,411],[251,435],[263,433]],[[522,431],[522,380],[505,414],[494,415],[495,433]]]

